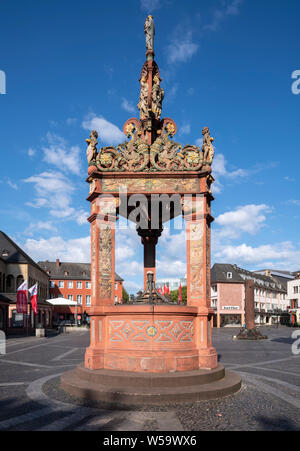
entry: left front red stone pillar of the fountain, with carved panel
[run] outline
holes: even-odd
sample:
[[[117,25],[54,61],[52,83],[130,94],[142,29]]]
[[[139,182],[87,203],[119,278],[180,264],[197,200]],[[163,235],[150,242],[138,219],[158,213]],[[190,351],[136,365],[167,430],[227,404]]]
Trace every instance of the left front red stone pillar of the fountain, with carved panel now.
[[[85,354],[85,367],[104,367],[105,334],[107,321],[105,307],[114,305],[115,296],[115,225],[113,200],[101,198],[91,222],[91,283],[92,298],[90,314],[90,347]]]

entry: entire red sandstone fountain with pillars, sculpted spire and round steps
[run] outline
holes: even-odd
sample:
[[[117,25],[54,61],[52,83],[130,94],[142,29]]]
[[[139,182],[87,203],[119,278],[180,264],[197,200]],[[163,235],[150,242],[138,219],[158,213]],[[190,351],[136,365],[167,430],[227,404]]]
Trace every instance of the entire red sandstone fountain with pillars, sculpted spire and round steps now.
[[[173,140],[176,123],[161,118],[164,90],[154,60],[154,22],[145,23],[146,62],[140,77],[140,118],[124,125],[127,140],[97,150],[88,143],[91,203],[91,336],[85,362],[61,377],[75,396],[112,404],[157,404],[217,398],[236,392],[241,378],[218,364],[210,305],[210,186],[213,138],[203,146]],[[164,201],[172,199],[172,202]],[[133,199],[140,199],[135,214]],[[155,290],[156,245],[164,223],[183,215],[187,246],[187,305]],[[144,292],[114,304],[116,221],[136,222],[144,246]]]

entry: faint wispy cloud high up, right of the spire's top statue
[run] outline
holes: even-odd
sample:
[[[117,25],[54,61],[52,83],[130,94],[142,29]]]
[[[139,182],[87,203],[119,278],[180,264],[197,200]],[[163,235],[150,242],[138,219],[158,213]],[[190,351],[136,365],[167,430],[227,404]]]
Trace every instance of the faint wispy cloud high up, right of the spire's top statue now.
[[[198,44],[192,41],[192,33],[188,32],[185,35],[179,33],[179,28],[176,31],[176,36],[168,45],[168,62],[173,63],[185,63],[198,50]]]

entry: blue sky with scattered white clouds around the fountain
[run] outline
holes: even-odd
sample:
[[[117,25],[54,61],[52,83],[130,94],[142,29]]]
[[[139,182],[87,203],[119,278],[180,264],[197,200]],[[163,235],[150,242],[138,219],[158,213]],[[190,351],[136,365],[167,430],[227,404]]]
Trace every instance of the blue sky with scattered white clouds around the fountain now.
[[[123,140],[138,117],[144,21],[152,13],[163,116],[183,144],[215,137],[213,262],[300,268],[298,0],[2,0],[1,223],[34,259],[89,261],[85,139]],[[158,276],[185,274],[184,232],[165,231]],[[142,281],[134,230],[116,270]]]

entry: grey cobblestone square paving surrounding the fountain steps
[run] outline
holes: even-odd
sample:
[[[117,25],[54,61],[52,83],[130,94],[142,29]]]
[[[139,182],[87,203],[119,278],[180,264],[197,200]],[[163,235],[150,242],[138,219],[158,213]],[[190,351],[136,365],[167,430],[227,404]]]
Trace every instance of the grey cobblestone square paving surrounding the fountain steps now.
[[[214,329],[219,361],[242,375],[239,393],[185,405],[110,410],[59,388],[59,376],[83,361],[89,333],[7,340],[0,356],[0,430],[201,431],[300,430],[300,355],[293,329],[263,328],[268,340],[234,341],[238,329]]]

